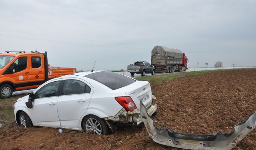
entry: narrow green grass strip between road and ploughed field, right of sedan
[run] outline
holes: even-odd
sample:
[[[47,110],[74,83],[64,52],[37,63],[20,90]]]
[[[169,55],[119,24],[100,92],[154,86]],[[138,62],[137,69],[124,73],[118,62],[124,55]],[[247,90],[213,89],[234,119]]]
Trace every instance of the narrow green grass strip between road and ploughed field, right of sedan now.
[[[205,74],[208,72],[216,72],[216,71],[225,71],[225,70],[233,70],[233,69],[222,69],[222,70],[202,70],[202,71],[192,71],[192,72],[177,72],[177,73],[169,73],[169,74],[160,74],[155,76],[143,76],[137,77],[136,80],[148,81],[150,84],[160,83],[166,80],[172,80],[176,78],[181,78],[185,76],[195,76],[199,74]]]

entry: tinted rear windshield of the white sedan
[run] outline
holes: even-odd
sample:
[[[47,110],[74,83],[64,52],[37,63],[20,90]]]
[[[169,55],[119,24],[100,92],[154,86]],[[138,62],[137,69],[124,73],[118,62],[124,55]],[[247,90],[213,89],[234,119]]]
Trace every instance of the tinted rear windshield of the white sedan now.
[[[112,90],[116,90],[136,82],[136,80],[132,78],[110,71],[95,72],[93,74],[88,74],[85,77],[98,81]]]

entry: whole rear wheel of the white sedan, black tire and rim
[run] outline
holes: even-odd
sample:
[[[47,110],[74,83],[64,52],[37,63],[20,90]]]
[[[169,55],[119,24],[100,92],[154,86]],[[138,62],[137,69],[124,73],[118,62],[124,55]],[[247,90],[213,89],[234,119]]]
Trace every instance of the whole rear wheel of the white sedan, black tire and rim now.
[[[109,128],[98,116],[88,115],[83,121],[84,132],[92,130],[94,134],[109,134]]]

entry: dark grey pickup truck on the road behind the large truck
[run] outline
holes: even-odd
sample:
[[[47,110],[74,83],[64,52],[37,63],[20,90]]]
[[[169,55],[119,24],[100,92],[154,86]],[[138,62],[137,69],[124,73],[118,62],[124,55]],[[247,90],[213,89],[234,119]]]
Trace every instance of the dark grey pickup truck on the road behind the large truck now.
[[[145,61],[137,61],[134,62],[134,64],[129,64],[127,71],[130,72],[131,76],[134,76],[134,74],[141,74],[141,76],[145,76],[145,74],[155,74],[154,66]]]

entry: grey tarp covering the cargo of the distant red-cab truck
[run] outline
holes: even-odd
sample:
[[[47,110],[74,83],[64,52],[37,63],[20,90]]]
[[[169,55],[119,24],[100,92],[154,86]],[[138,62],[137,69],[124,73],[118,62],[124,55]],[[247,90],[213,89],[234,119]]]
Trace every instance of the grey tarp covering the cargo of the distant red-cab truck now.
[[[174,48],[168,48],[164,46],[155,46],[151,52],[151,56],[154,56],[155,54],[160,54],[161,56],[169,56],[169,57],[174,57],[174,58],[179,58],[182,59],[183,53]]]

